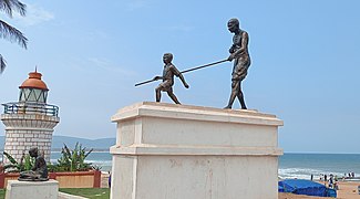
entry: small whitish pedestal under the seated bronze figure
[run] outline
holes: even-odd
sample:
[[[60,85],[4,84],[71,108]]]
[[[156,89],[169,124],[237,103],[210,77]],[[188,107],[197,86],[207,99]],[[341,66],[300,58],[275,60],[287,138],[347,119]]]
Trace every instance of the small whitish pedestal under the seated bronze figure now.
[[[6,199],[58,199],[59,182],[9,180]]]

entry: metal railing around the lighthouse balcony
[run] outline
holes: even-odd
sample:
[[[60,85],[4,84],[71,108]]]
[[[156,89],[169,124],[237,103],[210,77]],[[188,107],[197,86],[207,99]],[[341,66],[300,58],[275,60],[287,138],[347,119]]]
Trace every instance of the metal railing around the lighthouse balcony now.
[[[59,114],[59,107],[51,104],[17,102],[2,104],[2,106],[4,106],[3,114],[39,114],[56,117]]]

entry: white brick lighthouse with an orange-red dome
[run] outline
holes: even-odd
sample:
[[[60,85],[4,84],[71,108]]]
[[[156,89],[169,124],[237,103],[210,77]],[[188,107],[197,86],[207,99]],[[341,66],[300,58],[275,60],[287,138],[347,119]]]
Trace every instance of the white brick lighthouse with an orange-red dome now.
[[[59,123],[59,107],[47,104],[49,88],[41,73],[29,73],[20,88],[19,102],[2,104],[1,121],[6,125],[4,151],[16,160],[31,147],[38,147],[50,161],[52,133]],[[9,160],[3,157],[4,163]]]

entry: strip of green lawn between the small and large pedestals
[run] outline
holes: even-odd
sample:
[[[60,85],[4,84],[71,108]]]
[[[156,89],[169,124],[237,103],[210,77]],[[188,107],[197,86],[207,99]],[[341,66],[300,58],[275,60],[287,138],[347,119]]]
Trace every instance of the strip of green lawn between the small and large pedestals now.
[[[59,191],[85,198],[109,199],[109,188],[60,188]]]

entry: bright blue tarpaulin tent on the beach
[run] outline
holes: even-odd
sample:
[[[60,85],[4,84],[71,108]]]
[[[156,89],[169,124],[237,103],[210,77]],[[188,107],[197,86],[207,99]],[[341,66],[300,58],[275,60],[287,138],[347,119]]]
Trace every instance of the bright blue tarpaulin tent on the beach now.
[[[279,192],[292,192],[296,195],[328,197],[329,190],[326,186],[305,179],[286,179],[279,181]]]

